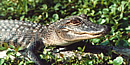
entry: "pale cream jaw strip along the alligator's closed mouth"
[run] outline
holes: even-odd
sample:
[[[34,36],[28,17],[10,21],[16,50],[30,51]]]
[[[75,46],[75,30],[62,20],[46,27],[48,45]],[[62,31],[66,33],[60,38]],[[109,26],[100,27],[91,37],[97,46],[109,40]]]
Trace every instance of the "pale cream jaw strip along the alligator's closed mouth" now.
[[[65,35],[65,34],[63,34]],[[66,33],[66,36],[60,35],[59,37],[61,39],[64,39],[66,41],[80,41],[80,40],[84,40],[84,39],[92,39],[92,38],[97,38],[97,37],[101,37],[103,36],[104,33],[84,33],[84,32],[72,32],[69,31]]]

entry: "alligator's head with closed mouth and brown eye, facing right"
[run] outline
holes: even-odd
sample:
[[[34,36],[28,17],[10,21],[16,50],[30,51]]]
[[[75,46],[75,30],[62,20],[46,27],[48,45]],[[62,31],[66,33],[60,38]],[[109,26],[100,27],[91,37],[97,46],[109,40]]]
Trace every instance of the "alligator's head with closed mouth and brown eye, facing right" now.
[[[49,30],[53,30],[51,31],[53,34],[47,34],[49,36],[47,43],[66,46],[84,39],[101,37],[107,34],[110,28],[106,25],[94,24],[86,15],[81,14],[51,24]]]

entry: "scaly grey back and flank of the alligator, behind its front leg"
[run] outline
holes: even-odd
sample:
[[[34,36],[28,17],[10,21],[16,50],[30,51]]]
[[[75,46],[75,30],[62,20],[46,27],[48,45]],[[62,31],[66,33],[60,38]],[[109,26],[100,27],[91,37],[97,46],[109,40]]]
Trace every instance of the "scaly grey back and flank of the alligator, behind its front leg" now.
[[[27,48],[43,32],[44,27],[37,23],[0,20],[0,44],[9,43],[15,47],[22,46]]]

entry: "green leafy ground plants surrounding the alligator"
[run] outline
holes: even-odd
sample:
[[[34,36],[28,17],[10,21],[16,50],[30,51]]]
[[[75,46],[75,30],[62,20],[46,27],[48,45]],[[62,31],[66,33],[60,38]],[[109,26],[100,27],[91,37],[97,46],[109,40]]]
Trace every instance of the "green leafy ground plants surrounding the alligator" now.
[[[97,24],[106,24],[111,26],[111,32],[105,37],[86,40],[87,43],[93,45],[107,45],[130,48],[130,21],[129,9],[130,0],[0,0],[0,19],[17,19],[41,23],[43,25],[55,22],[61,18],[66,18],[72,15],[80,15],[84,13],[89,20]],[[5,44],[6,45],[6,44]],[[31,61],[26,61],[23,58],[12,60],[10,55],[18,58],[16,55],[18,49],[8,51],[7,58],[0,59],[0,65],[22,65],[33,64]],[[1,48],[0,48],[1,49]],[[82,48],[78,47],[82,54]],[[48,60],[48,57],[50,60]],[[61,59],[47,55],[41,55],[53,64],[60,64]],[[123,57],[117,56],[112,59],[112,56],[104,56],[102,53],[98,57],[82,57],[81,60],[69,59],[64,60],[64,65],[98,65],[98,64],[113,64],[113,65],[128,65],[130,61],[124,60]]]

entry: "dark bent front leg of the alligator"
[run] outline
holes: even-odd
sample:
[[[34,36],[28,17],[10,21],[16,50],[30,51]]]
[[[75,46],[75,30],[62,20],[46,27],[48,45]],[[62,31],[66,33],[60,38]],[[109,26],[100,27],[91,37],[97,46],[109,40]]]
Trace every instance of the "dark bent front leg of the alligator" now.
[[[33,42],[27,51],[27,56],[34,61],[37,65],[48,65],[46,61],[42,61],[37,52],[40,50],[40,47],[44,47],[44,44],[41,41]]]

